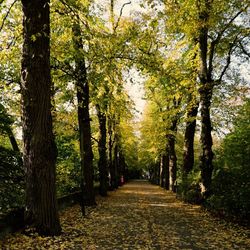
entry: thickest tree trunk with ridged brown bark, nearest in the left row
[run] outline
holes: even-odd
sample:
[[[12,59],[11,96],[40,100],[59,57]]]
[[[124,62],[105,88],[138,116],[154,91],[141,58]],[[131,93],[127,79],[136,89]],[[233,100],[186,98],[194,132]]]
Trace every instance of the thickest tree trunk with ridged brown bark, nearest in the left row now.
[[[48,0],[22,0],[21,69],[25,219],[42,235],[61,232],[55,188],[57,149],[52,131]]]

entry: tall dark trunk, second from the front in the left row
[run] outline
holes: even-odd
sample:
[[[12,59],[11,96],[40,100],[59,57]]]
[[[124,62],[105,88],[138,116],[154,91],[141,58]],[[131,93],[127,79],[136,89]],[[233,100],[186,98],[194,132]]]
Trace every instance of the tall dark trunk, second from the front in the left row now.
[[[89,83],[83,55],[83,42],[79,20],[73,24],[73,42],[75,48],[75,81],[78,102],[78,124],[80,138],[81,156],[81,187],[83,192],[84,204],[87,206],[95,205],[94,192],[94,169],[93,152],[91,144],[91,128],[89,116]]]

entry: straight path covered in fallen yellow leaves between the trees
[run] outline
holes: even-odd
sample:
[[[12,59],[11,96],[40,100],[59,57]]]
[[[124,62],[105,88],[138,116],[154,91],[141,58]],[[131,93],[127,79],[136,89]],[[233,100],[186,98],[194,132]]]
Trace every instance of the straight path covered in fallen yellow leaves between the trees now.
[[[158,186],[133,181],[107,198],[85,218],[79,206],[61,216],[59,237],[15,234],[2,249],[250,249],[250,232],[219,222]]]

